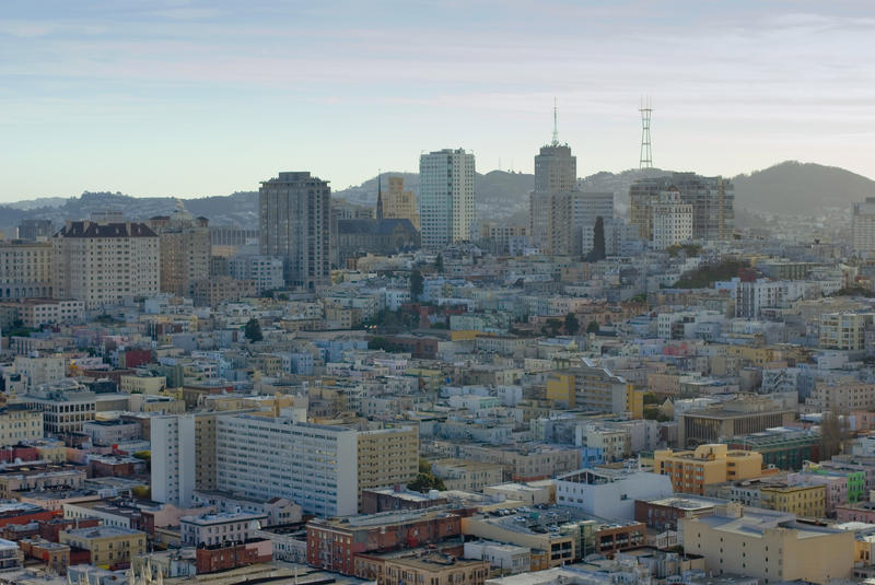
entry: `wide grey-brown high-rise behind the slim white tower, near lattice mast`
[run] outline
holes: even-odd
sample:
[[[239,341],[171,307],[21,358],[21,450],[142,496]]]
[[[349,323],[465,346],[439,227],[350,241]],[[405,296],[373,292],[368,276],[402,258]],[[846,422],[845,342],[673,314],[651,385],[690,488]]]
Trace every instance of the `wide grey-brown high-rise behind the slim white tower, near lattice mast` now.
[[[692,206],[692,239],[728,239],[735,229],[735,188],[723,177],[696,173],[635,180],[629,187],[630,223],[642,239],[653,239],[653,208],[661,194],[676,188],[684,203]]]

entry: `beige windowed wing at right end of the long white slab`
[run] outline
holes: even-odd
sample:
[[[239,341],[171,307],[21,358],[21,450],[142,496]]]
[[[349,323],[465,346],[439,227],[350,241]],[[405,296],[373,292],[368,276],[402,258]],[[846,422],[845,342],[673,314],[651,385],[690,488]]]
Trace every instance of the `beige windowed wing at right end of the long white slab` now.
[[[419,472],[419,429],[401,426],[358,433],[359,503],[362,490],[407,484]]]

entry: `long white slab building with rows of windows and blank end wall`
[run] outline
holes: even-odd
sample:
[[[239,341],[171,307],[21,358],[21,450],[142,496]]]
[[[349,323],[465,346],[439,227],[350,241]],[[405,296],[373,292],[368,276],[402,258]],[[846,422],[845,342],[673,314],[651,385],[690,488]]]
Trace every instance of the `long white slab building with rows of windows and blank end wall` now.
[[[217,488],[247,498],[288,498],[323,517],[358,511],[358,433],[247,414],[217,419]]]

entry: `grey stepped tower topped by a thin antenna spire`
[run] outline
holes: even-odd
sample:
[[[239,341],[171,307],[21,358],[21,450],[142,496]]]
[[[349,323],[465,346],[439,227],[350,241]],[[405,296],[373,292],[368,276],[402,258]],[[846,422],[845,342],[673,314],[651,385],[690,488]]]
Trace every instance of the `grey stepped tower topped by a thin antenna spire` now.
[[[529,197],[529,234],[532,245],[551,250],[551,224],[553,222],[553,196],[569,192],[578,182],[578,157],[572,156],[571,147],[553,142],[540,148],[535,156],[535,190]]]

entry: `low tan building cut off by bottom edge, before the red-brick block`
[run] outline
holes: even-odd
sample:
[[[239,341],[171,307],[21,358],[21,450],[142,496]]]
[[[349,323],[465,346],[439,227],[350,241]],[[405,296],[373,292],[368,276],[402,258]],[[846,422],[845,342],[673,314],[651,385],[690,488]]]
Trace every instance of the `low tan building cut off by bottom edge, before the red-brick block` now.
[[[424,557],[387,559],[377,585],[483,585],[489,562],[432,552]]]

